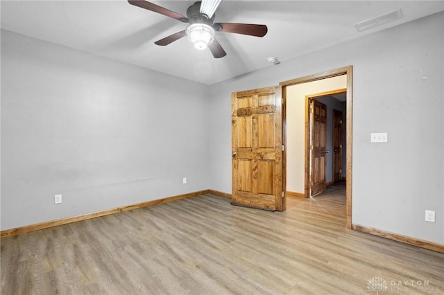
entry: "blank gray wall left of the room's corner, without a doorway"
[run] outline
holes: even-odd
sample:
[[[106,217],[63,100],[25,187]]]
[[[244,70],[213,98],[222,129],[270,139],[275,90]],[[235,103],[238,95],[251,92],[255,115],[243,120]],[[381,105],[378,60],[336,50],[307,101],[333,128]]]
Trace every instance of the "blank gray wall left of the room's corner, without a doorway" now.
[[[2,30],[1,230],[209,188],[207,109],[203,84]]]

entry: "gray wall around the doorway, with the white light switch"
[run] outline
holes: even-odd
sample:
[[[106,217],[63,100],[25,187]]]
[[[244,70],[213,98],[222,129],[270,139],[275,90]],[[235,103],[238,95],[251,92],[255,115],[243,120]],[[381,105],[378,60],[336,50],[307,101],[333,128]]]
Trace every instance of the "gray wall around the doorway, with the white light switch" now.
[[[352,222],[444,244],[443,28],[441,12],[212,85],[211,187],[231,193],[231,92],[352,65]]]

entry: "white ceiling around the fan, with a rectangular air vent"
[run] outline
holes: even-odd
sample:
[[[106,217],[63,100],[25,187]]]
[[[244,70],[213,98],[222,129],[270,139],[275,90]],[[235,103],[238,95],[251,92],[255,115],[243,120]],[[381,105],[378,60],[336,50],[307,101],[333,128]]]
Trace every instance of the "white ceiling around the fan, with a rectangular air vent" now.
[[[186,15],[194,1],[151,1]],[[227,55],[214,59],[184,37],[168,46],[158,39],[187,24],[119,1],[3,1],[1,28],[80,51],[128,62],[204,84],[255,71],[268,64],[397,26],[444,10],[444,1],[227,1],[215,22],[266,24],[265,37],[216,33]],[[353,24],[398,8],[402,19],[357,32]]]

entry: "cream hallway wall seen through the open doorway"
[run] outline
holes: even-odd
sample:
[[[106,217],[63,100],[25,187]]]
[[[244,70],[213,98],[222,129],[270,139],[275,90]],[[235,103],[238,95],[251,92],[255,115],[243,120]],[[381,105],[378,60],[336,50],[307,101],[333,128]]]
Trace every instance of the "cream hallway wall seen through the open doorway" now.
[[[305,97],[344,88],[347,88],[347,75],[287,87],[288,191],[305,193]],[[331,181],[332,171],[327,170],[327,176],[330,180],[329,177],[326,180]]]

